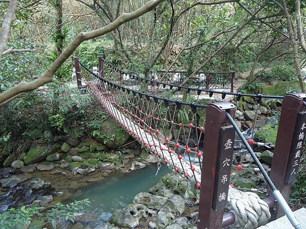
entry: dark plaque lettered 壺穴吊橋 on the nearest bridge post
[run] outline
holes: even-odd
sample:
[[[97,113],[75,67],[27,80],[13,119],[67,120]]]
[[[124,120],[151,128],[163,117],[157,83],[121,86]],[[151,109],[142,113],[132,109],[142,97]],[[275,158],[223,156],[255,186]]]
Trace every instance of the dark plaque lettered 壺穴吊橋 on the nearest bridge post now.
[[[213,209],[222,210],[227,203],[228,186],[230,185],[235,130],[233,126],[221,127],[216,179],[214,185]]]

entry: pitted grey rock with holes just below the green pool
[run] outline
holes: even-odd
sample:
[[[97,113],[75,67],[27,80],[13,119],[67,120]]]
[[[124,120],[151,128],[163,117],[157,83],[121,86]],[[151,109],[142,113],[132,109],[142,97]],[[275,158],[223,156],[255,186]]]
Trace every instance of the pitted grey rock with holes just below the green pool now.
[[[139,225],[141,218],[147,217],[147,211],[144,205],[130,204],[123,209],[116,209],[110,218],[110,222],[119,227],[128,226],[134,228]]]

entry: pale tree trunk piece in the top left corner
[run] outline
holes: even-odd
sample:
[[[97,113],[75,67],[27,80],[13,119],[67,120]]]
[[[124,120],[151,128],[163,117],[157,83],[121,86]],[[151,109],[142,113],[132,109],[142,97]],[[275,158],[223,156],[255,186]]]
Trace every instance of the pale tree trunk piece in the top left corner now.
[[[5,15],[2,26],[0,27],[0,58],[2,53],[8,49],[8,37],[11,23],[16,12],[17,0],[10,0],[8,12]]]

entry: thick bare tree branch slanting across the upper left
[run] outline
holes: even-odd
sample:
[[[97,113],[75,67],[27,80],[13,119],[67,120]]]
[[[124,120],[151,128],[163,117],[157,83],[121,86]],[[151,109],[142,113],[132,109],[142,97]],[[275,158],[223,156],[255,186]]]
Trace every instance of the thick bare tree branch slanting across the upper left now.
[[[62,52],[62,54],[55,60],[55,62],[48,68],[48,70],[42,76],[31,82],[20,82],[13,88],[0,94],[0,104],[20,93],[33,91],[48,82],[52,82],[54,73],[63,65],[63,63],[69,58],[73,51],[77,49],[83,41],[87,41],[114,31],[123,23],[131,21],[153,10],[163,1],[164,0],[151,0],[141,8],[131,13],[122,13],[116,20],[104,27],[98,28],[97,30],[91,32],[78,34],[74,37],[68,47]]]

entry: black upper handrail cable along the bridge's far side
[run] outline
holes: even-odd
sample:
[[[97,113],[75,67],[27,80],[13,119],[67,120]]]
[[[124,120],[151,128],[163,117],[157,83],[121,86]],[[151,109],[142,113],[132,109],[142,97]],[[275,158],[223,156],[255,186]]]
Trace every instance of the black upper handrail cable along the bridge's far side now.
[[[118,69],[117,67],[111,65],[110,63],[108,63],[102,56],[99,56],[99,58],[106,63],[107,66],[113,68],[114,70],[116,70],[117,72],[120,72],[122,74],[129,74],[131,75],[130,78],[136,78],[137,80],[144,80],[146,82],[151,82],[151,83],[156,83],[157,85],[161,84],[163,85],[163,87],[169,86],[170,89],[172,88],[177,88],[177,91],[180,91],[181,89],[186,89],[187,93],[189,93],[190,91],[196,91],[198,95],[200,95],[201,92],[208,92],[209,96],[212,97],[214,93],[216,94],[221,94],[222,95],[222,99],[225,98],[226,95],[233,95],[236,96],[237,101],[239,101],[241,99],[241,97],[253,97],[253,98],[257,98],[258,100],[261,100],[261,98],[267,98],[267,99],[283,99],[284,96],[276,96],[276,95],[264,95],[264,94],[245,94],[245,93],[240,93],[240,92],[225,92],[225,91],[215,91],[215,90],[207,90],[207,89],[199,89],[199,88],[193,88],[193,87],[186,87],[186,86],[180,86],[180,85],[175,85],[175,84],[171,84],[171,83],[166,83],[166,82],[160,82],[154,79],[146,79],[143,78],[141,76],[137,76],[134,74],[130,74],[128,72],[122,71],[120,69]]]

